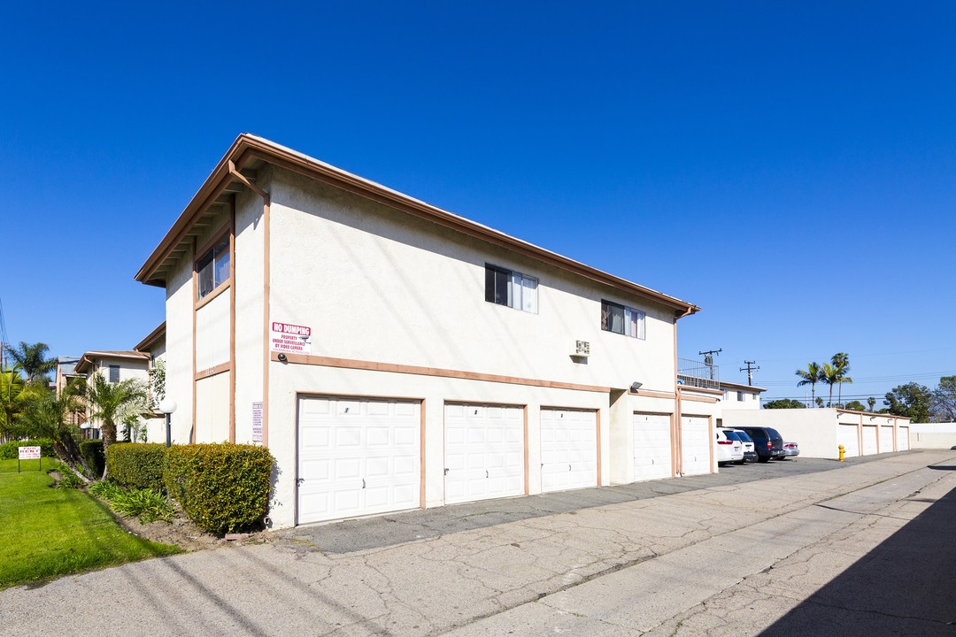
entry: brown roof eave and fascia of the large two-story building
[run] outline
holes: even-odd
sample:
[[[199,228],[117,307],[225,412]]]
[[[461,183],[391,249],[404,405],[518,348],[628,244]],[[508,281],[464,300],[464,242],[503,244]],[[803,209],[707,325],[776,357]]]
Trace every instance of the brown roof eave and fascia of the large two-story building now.
[[[162,287],[163,282],[152,280],[163,262],[169,257],[175,247],[183,241],[190,227],[199,219],[210,202],[215,201],[226,188],[232,178],[229,175],[229,162],[233,162],[237,170],[241,170],[250,159],[261,159],[275,166],[291,170],[306,177],[320,180],[342,190],[354,193],[375,202],[402,210],[407,214],[424,219],[431,223],[438,223],[451,228],[469,237],[480,239],[489,244],[498,245],[505,249],[531,257],[532,259],[553,265],[562,270],[572,272],[591,281],[614,287],[621,291],[635,294],[643,299],[661,304],[675,310],[678,318],[700,311],[701,308],[692,303],[682,301],[673,296],[663,294],[649,287],[639,286],[636,283],[621,279],[613,274],[598,270],[590,265],[584,265],[573,259],[563,257],[551,250],[511,237],[482,223],[472,222],[454,213],[437,206],[422,202],[397,190],[392,190],[375,181],[366,180],[331,164],[311,158],[291,148],[281,146],[268,139],[259,138],[248,133],[240,135],[229,148],[228,153],[220,159],[215,169],[203,183],[199,192],[186,206],[176,223],[163,237],[163,241],[153,250],[153,253],[137,272],[136,280],[147,284]]]

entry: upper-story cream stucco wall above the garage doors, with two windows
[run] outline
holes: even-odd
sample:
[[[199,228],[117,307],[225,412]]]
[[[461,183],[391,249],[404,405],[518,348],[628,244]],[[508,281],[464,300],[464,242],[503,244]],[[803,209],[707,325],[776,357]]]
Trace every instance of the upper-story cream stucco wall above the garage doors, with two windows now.
[[[283,171],[272,202],[272,320],[312,328],[313,354],[673,390],[672,309]],[[537,278],[538,312],[486,302],[486,263]],[[646,311],[646,338],[602,331],[602,298]]]

